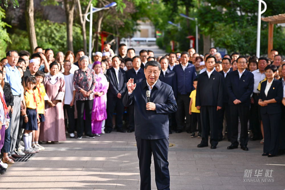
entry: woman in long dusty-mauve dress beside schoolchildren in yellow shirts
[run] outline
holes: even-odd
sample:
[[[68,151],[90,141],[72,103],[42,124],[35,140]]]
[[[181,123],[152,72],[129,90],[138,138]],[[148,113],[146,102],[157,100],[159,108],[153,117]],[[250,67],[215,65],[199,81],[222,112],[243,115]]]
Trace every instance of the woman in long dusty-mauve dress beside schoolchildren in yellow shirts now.
[[[45,101],[45,122],[40,125],[39,140],[43,144],[47,141],[52,141],[58,144],[58,141],[66,140],[64,113],[63,113],[63,98],[65,91],[64,78],[58,75],[59,65],[57,62],[50,64],[50,74],[44,78],[44,88],[46,89]]]

